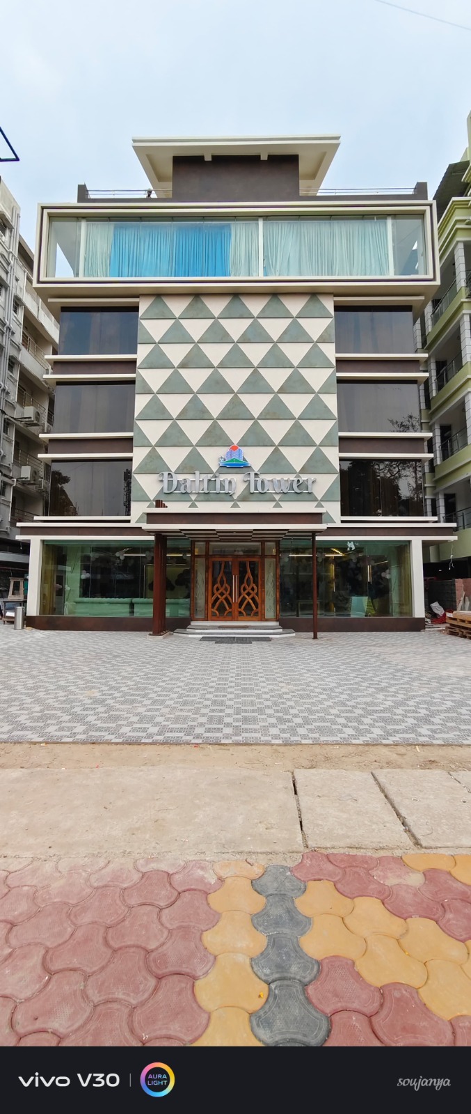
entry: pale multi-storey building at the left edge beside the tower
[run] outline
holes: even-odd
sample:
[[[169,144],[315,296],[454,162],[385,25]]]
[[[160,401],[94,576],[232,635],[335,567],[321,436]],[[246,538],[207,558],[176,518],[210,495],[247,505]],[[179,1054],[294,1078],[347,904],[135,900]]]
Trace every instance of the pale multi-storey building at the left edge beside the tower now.
[[[56,319],[32,287],[33,257],[20,235],[20,209],[0,179],[0,597],[28,573],[29,546],[17,522],[43,515],[49,468],[40,433],[52,422],[47,355],[57,351]]]

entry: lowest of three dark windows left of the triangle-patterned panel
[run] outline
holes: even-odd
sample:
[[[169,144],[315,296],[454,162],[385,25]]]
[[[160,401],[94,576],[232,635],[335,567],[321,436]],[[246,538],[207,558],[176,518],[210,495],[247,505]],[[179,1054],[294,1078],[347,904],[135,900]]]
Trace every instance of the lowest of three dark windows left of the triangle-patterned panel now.
[[[55,461],[49,515],[129,515],[130,486],[130,460]]]

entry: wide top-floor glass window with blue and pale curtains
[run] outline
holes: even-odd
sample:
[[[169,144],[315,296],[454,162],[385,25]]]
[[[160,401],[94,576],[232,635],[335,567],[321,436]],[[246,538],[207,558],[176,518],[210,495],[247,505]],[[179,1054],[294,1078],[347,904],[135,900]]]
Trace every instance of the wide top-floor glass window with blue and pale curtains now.
[[[419,277],[422,214],[51,217],[49,278]]]

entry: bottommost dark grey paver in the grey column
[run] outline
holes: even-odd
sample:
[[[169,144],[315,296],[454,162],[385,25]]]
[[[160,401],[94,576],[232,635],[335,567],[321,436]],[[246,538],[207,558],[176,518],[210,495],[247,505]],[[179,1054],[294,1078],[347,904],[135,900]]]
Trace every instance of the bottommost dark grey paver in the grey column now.
[[[304,987],[295,979],[272,983],[268,998],[251,1016],[253,1033],[267,1045],[318,1046],[328,1036],[328,1017],[312,1006]]]

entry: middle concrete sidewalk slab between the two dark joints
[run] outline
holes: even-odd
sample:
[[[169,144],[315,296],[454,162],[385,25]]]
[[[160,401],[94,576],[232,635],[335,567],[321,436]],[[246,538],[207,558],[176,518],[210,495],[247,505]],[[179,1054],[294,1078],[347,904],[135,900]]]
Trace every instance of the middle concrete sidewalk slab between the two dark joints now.
[[[411,847],[371,773],[295,770],[294,775],[310,847]]]

